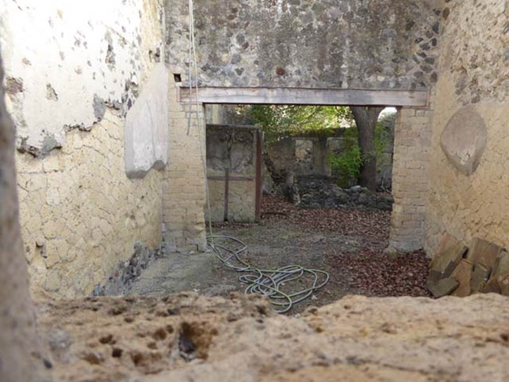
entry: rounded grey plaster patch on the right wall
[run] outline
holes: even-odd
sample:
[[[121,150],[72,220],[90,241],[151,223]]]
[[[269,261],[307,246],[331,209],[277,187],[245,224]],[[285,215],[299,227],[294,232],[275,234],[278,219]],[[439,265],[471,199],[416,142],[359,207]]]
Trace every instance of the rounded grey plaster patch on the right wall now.
[[[440,145],[454,167],[464,175],[471,175],[479,165],[487,139],[484,119],[473,106],[466,106],[449,120],[440,138]]]

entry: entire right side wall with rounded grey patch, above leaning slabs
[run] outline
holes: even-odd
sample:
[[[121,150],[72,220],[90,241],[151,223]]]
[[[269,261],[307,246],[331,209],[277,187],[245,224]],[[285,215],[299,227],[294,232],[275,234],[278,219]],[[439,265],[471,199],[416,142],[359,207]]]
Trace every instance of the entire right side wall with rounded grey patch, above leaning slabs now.
[[[426,249],[444,232],[507,247],[509,5],[451,1],[444,19]]]

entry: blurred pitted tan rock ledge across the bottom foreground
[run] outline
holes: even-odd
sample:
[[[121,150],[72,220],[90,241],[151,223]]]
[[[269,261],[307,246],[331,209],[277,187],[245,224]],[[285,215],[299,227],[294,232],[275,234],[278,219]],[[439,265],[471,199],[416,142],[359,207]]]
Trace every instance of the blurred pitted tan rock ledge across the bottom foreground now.
[[[509,299],[348,296],[300,318],[258,296],[39,304],[62,381],[505,381]]]

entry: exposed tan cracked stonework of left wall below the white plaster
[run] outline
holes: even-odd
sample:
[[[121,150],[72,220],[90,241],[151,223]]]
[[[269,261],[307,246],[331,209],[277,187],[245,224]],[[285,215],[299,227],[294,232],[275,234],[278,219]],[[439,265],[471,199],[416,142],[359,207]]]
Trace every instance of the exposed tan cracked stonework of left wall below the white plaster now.
[[[43,159],[17,154],[21,228],[32,283],[58,296],[90,294],[135,242],[158,248],[162,173],[130,180],[124,123],[107,110]]]

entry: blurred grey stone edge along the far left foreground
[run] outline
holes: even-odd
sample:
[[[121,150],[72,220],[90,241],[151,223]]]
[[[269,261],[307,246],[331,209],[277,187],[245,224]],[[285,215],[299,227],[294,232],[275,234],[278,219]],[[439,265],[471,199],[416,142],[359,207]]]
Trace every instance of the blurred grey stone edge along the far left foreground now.
[[[14,126],[4,103],[0,58],[0,379],[2,382],[50,380],[35,312],[18,220]],[[46,366],[44,366],[46,362]]]

